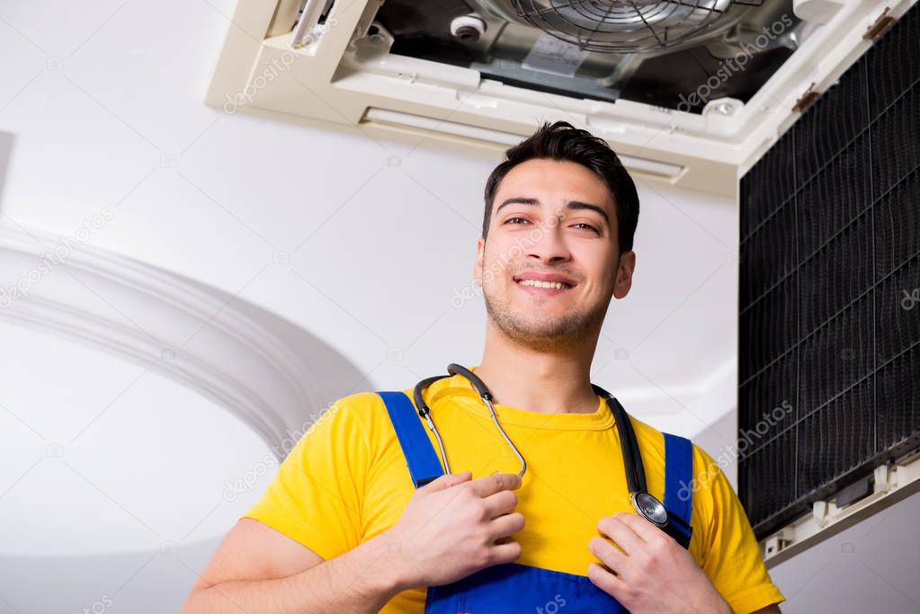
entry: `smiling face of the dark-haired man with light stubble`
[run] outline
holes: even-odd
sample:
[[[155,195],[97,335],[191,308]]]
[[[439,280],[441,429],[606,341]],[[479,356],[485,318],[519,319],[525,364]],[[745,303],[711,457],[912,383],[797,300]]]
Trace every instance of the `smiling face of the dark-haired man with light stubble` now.
[[[588,168],[542,158],[512,168],[495,195],[488,239],[477,243],[475,276],[491,321],[541,350],[596,339],[635,267],[632,251],[619,255],[616,233],[613,196]]]

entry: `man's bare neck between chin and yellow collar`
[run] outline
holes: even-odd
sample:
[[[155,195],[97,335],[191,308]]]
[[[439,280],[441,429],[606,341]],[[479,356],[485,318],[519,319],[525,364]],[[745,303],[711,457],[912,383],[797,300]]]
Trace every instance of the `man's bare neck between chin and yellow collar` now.
[[[489,321],[476,374],[497,404],[546,414],[592,414],[598,403],[591,387],[597,335],[589,341],[546,352],[514,343]]]

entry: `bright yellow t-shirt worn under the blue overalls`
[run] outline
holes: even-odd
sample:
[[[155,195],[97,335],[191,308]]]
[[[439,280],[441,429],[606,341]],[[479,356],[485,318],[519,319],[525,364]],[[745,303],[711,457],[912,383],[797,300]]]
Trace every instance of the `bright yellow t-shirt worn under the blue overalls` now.
[[[404,392],[412,398],[411,390]],[[474,479],[495,471],[518,472],[517,458],[466,378],[436,381],[424,398],[451,471],[471,471]],[[495,410],[527,460],[523,483],[515,491],[515,510],[525,521],[514,535],[522,547],[515,563],[587,575],[588,563],[597,561],[588,550],[597,521],[619,511],[634,512],[613,414],[600,396],[592,414],[541,414],[500,404]],[[664,438],[635,417],[632,422],[649,492],[663,500]],[[437,450],[431,431],[424,430]],[[784,601],[728,479],[696,445],[693,457],[699,479],[690,552],[696,563],[739,614]],[[310,427],[245,517],[328,560],[392,527],[413,492],[383,399],[360,392],[339,399]],[[421,612],[424,603],[425,589],[416,588],[399,593],[381,611]]]

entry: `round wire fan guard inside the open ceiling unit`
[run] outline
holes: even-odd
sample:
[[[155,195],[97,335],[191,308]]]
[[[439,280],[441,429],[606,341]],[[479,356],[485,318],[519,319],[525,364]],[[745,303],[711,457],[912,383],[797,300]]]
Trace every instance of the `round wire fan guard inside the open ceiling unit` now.
[[[586,51],[653,51],[694,40],[732,6],[763,0],[513,0],[519,17]]]

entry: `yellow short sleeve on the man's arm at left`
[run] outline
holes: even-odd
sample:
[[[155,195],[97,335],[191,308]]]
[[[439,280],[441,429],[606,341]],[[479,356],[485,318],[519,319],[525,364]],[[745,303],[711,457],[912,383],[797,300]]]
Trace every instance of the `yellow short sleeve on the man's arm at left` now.
[[[265,493],[243,515],[325,560],[359,543],[369,451],[355,397],[339,399],[307,429]]]

